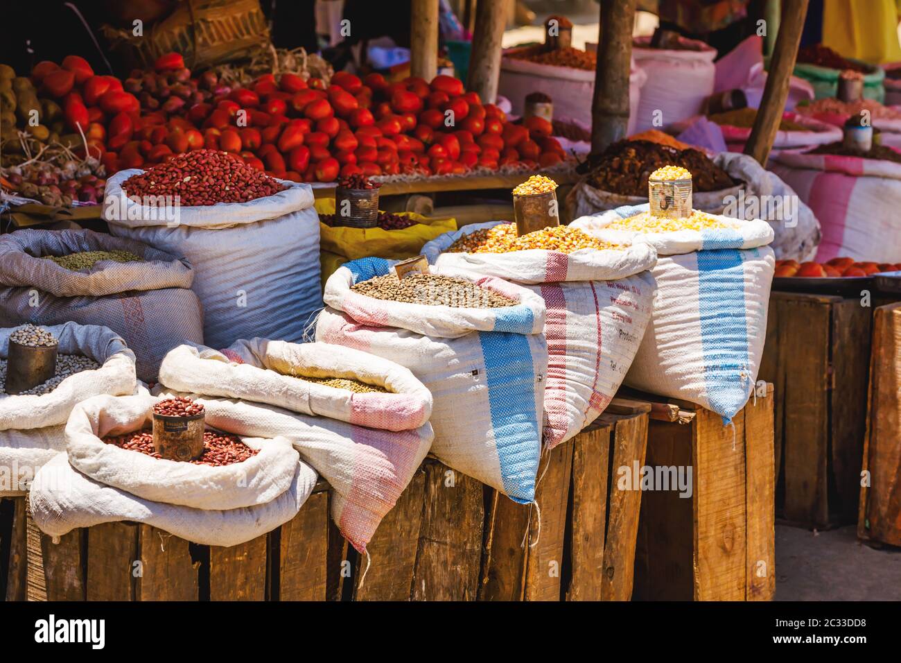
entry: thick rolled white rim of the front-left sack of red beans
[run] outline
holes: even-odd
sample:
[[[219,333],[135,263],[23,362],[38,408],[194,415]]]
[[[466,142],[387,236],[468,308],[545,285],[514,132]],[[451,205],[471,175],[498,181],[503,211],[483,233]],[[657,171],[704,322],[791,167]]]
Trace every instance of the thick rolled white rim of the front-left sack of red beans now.
[[[287,491],[297,452],[284,437],[248,437],[229,422],[225,432],[258,450],[241,463],[210,466],[154,458],[106,444],[106,436],[150,428],[150,395],[96,396],[77,405],[66,425],[68,462],[82,474],[153,502],[227,510],[271,502]],[[237,430],[235,428],[238,428]]]

